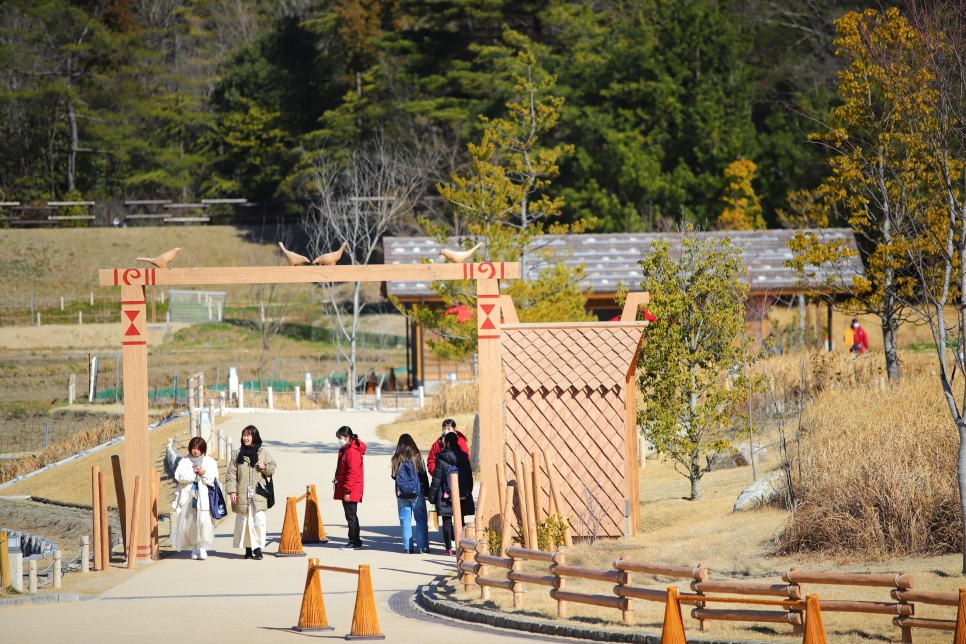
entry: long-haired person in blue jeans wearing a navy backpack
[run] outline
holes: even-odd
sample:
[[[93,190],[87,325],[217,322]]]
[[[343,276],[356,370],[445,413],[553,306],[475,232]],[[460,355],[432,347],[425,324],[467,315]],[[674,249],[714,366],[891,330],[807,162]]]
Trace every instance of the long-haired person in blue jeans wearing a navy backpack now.
[[[396,481],[396,508],[399,510],[399,527],[402,528],[403,552],[406,554],[429,554],[429,524],[426,514],[426,494],[429,478],[426,465],[409,434],[403,434],[396,443],[392,457],[392,478]],[[416,519],[416,547],[412,547],[413,518]]]

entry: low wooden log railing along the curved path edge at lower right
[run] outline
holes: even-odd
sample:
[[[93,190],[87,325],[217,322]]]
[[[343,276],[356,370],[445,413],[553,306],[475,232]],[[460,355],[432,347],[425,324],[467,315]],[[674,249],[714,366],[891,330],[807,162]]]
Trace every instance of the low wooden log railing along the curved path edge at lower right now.
[[[477,539],[474,539],[474,534]],[[544,552],[510,546],[506,548],[506,557],[499,557],[488,553],[488,544],[479,538],[482,532],[474,533],[472,527],[467,527],[464,537],[459,541],[463,557],[459,563],[459,574],[467,590],[472,585],[480,587],[480,598],[489,599],[490,589],[498,588],[513,593],[513,607],[523,608],[525,584],[548,587],[549,595],[557,602],[557,617],[567,617],[569,603],[602,606],[621,611],[621,619],[625,624],[634,621],[634,609],[631,600],[650,602],[667,602],[666,589],[642,588],[631,584],[632,574],[657,575],[662,577],[677,577],[690,579],[690,589],[694,594],[679,595],[681,603],[691,604],[695,608],[691,611],[692,619],[698,620],[701,630],[708,628],[712,621],[738,622],[766,622],[784,623],[793,627],[793,632],[801,633],[804,621],[806,596],[803,584],[860,586],[874,588],[890,588],[893,601],[859,601],[821,599],[819,607],[822,612],[845,612],[893,615],[892,623],[902,629],[902,641],[912,642],[913,628],[952,631],[956,628],[955,620],[921,619],[915,617],[915,604],[930,604],[936,606],[960,607],[966,606],[966,589],[956,593],[935,593],[913,590],[913,577],[908,573],[895,575],[863,574],[863,573],[820,573],[807,572],[792,568],[782,575],[783,584],[762,582],[743,582],[734,580],[709,580],[710,571],[706,564],[696,566],[669,566],[632,561],[627,558],[618,559],[613,563],[612,570],[602,570],[585,566],[569,566],[566,563],[564,548],[554,552]],[[525,561],[547,563],[547,574],[524,572]],[[492,570],[492,573],[491,573]],[[497,576],[499,570],[506,570],[504,576]],[[613,595],[590,594],[573,592],[567,589],[567,579],[588,579],[613,584]],[[703,596],[739,595],[735,597],[735,604],[758,604],[781,610],[754,610],[745,608],[707,608]],[[762,599],[750,599],[758,597]],[[717,602],[727,603],[721,597],[712,598]]]

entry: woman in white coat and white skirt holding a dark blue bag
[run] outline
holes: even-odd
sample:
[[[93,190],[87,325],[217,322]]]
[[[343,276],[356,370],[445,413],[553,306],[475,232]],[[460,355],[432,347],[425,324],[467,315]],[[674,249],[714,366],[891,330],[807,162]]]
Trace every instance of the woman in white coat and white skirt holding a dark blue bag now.
[[[218,480],[218,463],[207,455],[208,444],[196,436],[188,443],[188,454],[178,462],[174,480],[178,485],[171,509],[177,525],[171,545],[177,550],[191,548],[192,559],[207,559],[215,543],[208,489]]]

